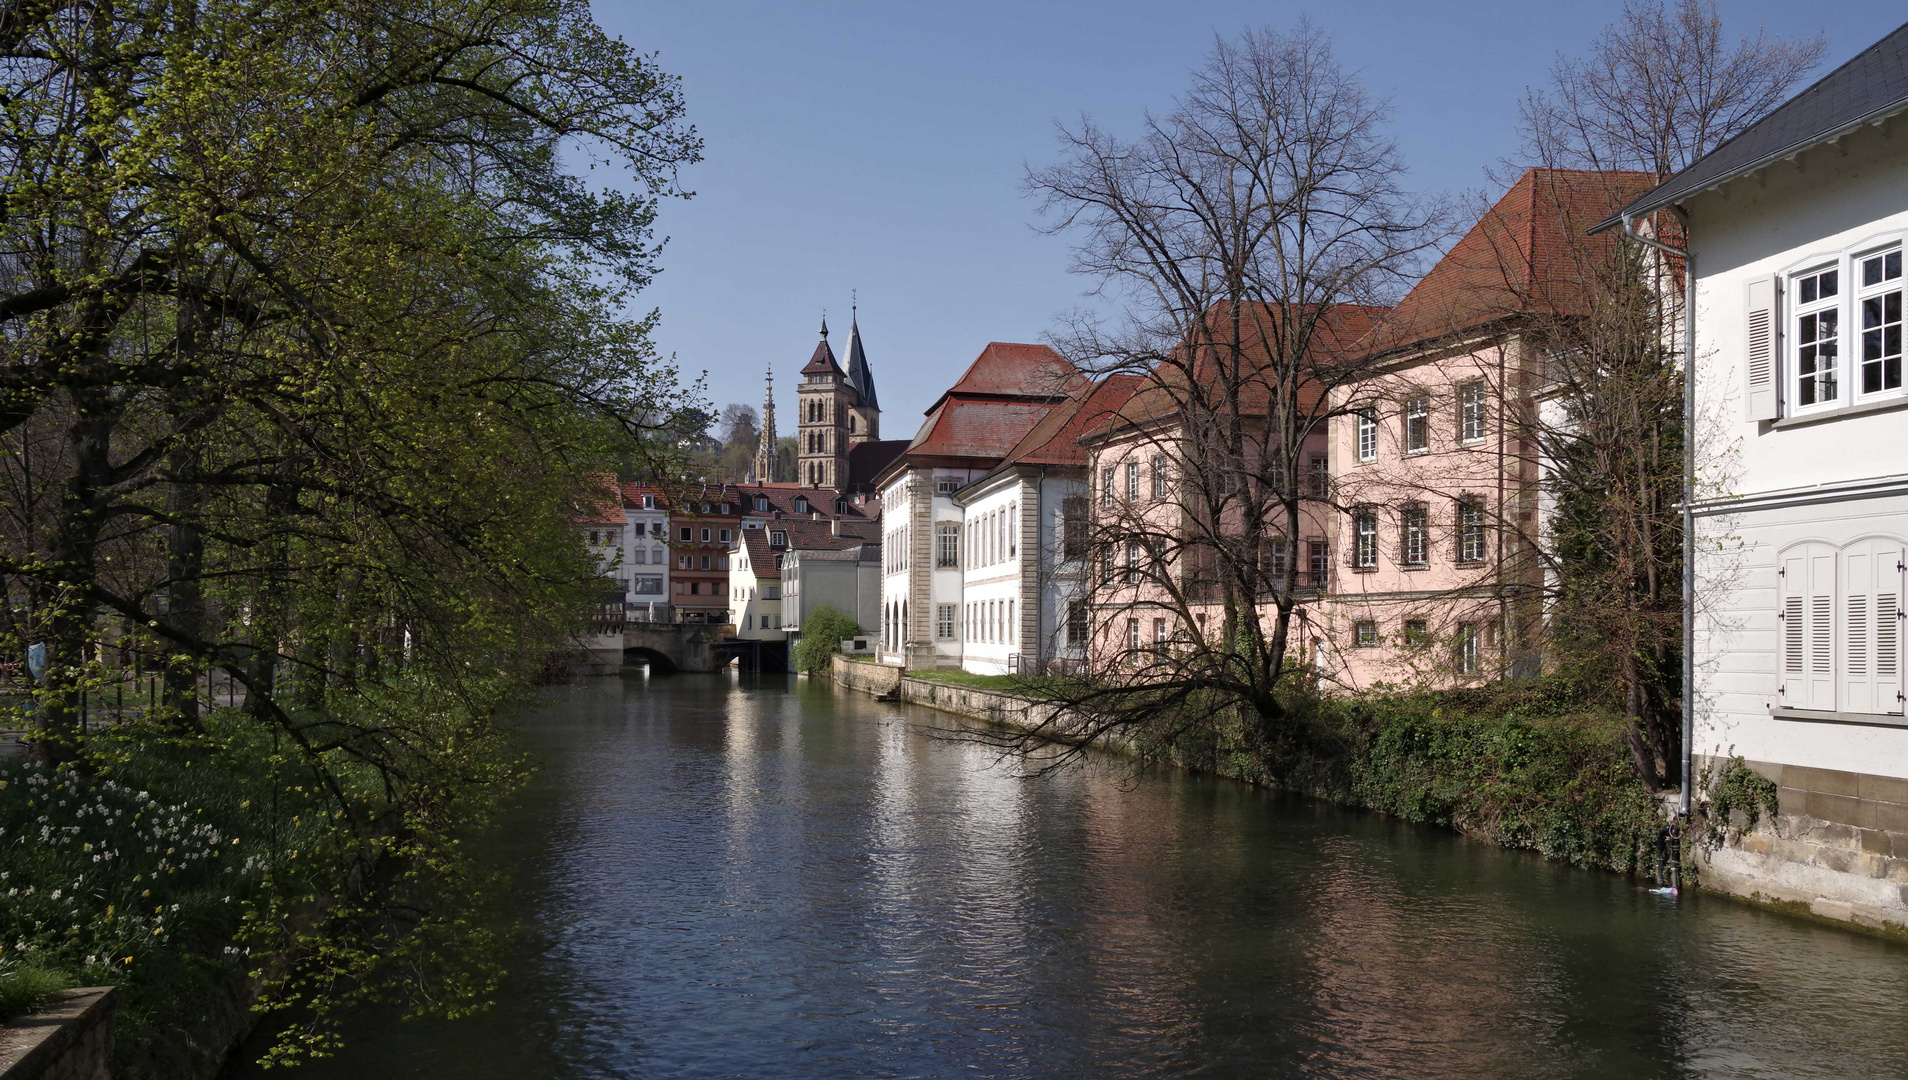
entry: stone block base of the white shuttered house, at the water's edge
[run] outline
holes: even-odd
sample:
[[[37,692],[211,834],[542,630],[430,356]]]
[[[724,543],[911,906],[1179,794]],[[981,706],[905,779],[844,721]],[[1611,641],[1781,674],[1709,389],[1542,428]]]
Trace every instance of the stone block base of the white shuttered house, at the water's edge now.
[[[1698,759],[1698,773],[1706,761]],[[1717,763],[1719,765],[1719,763]],[[1750,761],[1778,813],[1706,853],[1702,883],[1908,931],[1908,780]]]

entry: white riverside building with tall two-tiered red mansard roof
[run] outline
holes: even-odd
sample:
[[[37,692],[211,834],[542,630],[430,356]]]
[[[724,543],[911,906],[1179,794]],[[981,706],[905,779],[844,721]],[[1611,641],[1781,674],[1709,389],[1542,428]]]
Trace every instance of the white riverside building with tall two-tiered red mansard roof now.
[[[1084,382],[1046,345],[992,342],[927,408],[906,450],[876,475],[883,508],[881,662],[962,664],[965,511],[952,496],[998,466]]]

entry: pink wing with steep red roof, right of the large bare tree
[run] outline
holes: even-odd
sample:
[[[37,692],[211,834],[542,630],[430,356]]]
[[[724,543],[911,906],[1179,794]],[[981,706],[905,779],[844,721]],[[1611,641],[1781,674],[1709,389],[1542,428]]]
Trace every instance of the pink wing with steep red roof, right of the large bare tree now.
[[[1345,689],[1540,668],[1545,326],[1584,309],[1584,231],[1641,174],[1528,170],[1366,338],[1332,424],[1339,576],[1320,616]]]

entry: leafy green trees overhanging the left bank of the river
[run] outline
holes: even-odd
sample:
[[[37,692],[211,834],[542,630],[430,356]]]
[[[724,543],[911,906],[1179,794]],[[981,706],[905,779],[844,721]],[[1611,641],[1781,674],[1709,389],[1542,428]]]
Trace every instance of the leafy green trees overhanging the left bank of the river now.
[[[235,706],[343,830],[332,910],[454,925],[403,912],[517,773],[488,717],[590,599],[570,519],[679,412],[654,315],[618,315],[700,149],[675,80],[574,0],[11,6],[0,65],[0,647],[52,656],[34,754],[223,744]],[[88,719],[141,672],[107,754]],[[435,948],[300,929],[338,882],[267,889],[275,1000],[431,983]]]

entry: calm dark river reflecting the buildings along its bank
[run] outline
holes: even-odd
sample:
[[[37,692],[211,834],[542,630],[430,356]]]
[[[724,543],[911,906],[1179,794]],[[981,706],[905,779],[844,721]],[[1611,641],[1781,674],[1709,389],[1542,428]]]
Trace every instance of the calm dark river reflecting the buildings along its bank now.
[[[1227,780],[1023,780],[946,723],[551,695],[487,838],[496,1009],[294,1076],[1908,1076],[1908,946]]]

